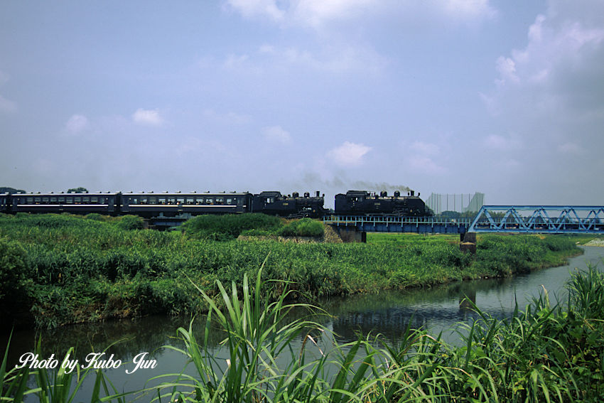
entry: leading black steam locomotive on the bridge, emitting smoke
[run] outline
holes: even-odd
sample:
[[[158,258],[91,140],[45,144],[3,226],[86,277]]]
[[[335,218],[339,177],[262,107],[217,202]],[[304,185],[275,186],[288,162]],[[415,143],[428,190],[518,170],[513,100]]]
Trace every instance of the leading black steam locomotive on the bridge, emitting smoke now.
[[[427,215],[424,201],[411,190],[401,196],[399,191],[389,196],[387,192],[370,193],[367,190],[348,190],[335,195],[335,213],[339,215],[397,215],[423,217]]]

